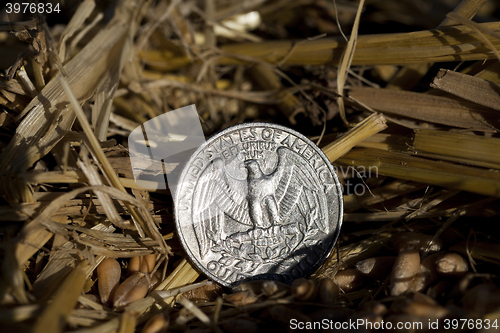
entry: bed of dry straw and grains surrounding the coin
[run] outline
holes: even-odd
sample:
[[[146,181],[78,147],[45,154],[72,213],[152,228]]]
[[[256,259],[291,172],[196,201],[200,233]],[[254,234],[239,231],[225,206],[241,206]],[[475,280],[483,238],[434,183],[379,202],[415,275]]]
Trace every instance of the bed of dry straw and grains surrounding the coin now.
[[[74,3],[0,13],[4,330],[498,318],[497,2]],[[332,162],[342,231],[312,276],[223,288],[193,266],[128,142],[190,104],[207,137],[279,123]]]

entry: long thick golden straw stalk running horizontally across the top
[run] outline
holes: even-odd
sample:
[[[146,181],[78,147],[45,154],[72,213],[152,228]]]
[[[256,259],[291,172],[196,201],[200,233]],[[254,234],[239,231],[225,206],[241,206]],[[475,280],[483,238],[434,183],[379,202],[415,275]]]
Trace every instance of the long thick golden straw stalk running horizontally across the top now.
[[[481,27],[500,32],[500,22],[481,23]],[[486,36],[498,48],[500,40]],[[221,65],[245,64],[251,59],[281,65],[337,65],[345,50],[343,37],[311,41],[269,41],[223,45]],[[164,51],[143,51],[141,57],[153,68],[169,70],[186,65],[187,57]],[[410,33],[358,36],[351,65],[412,64],[495,58],[474,29],[456,25]]]

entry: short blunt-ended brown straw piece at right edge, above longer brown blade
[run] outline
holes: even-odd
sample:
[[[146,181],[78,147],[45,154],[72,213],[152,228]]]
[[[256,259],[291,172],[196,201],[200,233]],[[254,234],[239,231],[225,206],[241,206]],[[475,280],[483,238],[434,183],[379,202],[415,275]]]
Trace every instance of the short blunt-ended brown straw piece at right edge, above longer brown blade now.
[[[431,86],[468,101],[500,110],[500,85],[449,70],[440,70]]]

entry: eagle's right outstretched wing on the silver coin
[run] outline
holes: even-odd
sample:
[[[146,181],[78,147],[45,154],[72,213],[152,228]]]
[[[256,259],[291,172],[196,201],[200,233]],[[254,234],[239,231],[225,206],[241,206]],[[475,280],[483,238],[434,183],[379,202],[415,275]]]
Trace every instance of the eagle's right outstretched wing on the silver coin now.
[[[278,149],[278,156],[278,168],[273,180],[281,223],[298,206],[303,214],[308,214],[308,226],[317,223],[321,231],[328,232],[324,216],[327,211],[326,195],[314,168],[303,157],[286,147]]]

